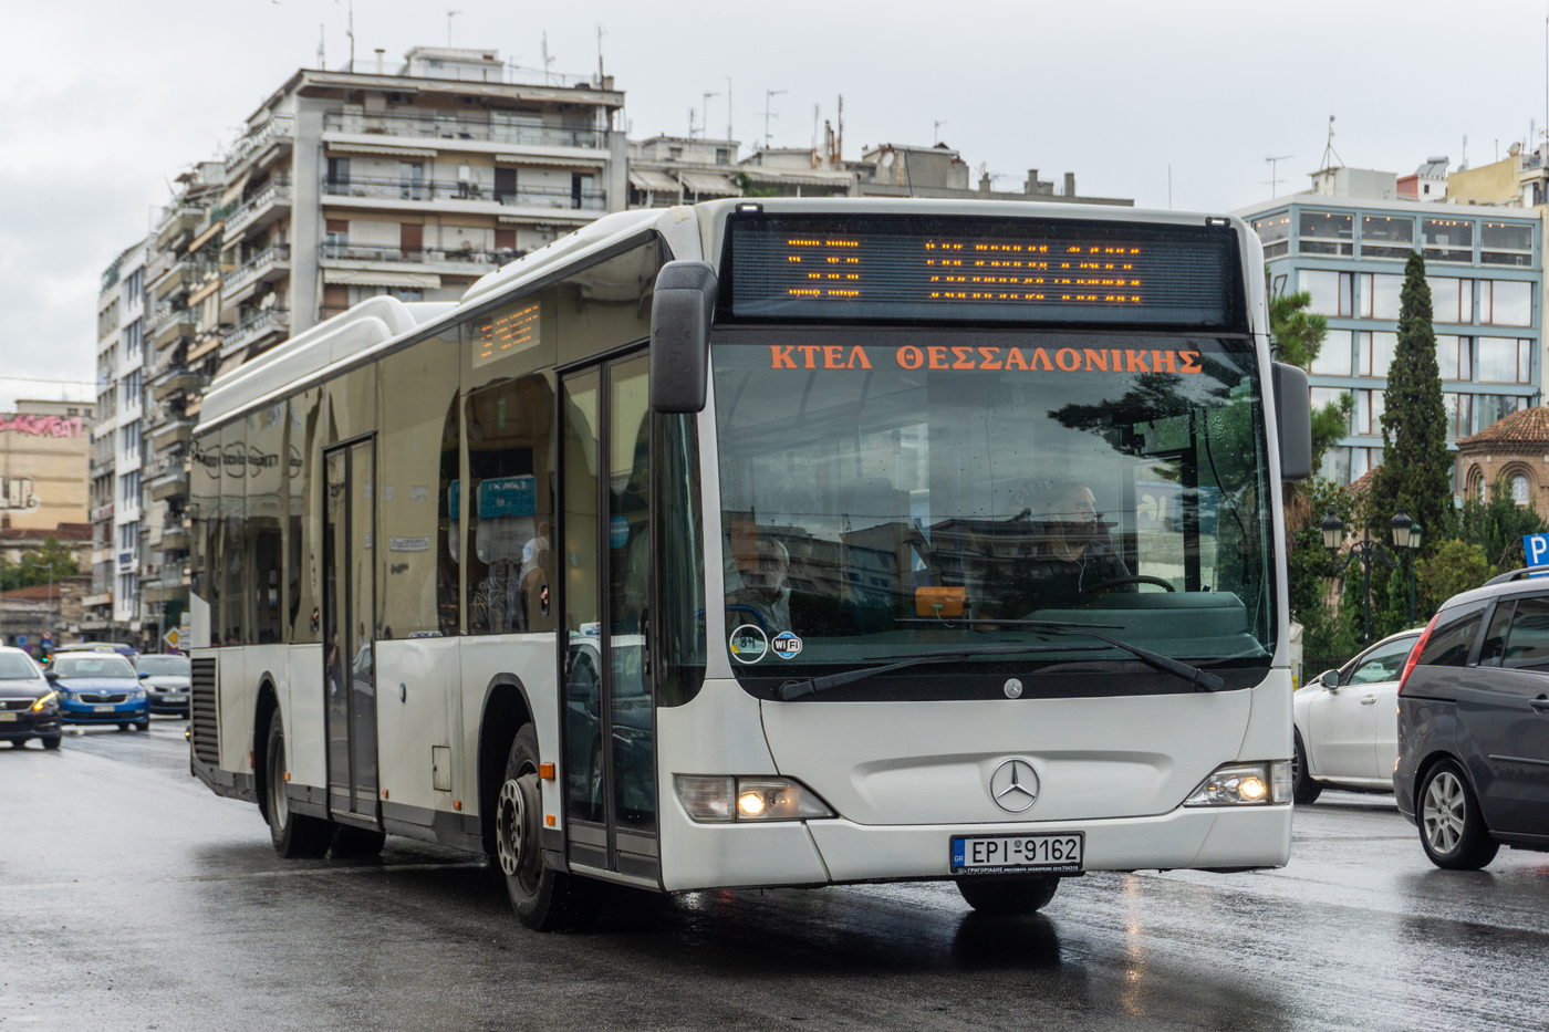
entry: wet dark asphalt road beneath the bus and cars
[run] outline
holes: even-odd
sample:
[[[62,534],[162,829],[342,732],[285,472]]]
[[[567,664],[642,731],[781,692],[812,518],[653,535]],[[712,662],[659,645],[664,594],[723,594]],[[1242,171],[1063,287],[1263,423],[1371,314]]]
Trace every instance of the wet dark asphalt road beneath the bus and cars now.
[[[1391,796],[1298,810],[1283,871],[1092,874],[1032,919],[624,894],[545,936],[463,854],[279,860],[186,748],[166,719],[0,747],[0,1029],[1549,1027],[1549,854],[1437,871]]]

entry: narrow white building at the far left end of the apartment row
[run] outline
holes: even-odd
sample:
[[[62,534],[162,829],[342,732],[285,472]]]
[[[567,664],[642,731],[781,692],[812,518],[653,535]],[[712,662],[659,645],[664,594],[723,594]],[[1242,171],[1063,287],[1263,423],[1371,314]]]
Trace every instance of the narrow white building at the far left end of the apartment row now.
[[[91,593],[82,632],[138,631],[144,456],[146,263],[152,237],[125,248],[98,290],[96,428],[91,434]]]

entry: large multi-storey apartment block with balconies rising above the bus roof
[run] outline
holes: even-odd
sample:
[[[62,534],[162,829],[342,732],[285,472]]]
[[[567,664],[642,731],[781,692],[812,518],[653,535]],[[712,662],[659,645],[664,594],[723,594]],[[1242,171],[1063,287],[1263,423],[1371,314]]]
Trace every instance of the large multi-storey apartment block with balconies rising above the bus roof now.
[[[621,209],[612,79],[513,77],[496,51],[417,46],[397,73],[378,54],[268,96],[225,155],[220,367],[375,294],[455,301]]]

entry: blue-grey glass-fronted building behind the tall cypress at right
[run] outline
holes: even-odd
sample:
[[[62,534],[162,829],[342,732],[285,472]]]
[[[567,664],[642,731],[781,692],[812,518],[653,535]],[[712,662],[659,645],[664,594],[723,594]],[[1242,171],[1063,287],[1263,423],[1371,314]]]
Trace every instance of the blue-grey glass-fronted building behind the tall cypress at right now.
[[[1396,174],[1354,172],[1323,177],[1338,191],[1238,212],[1264,242],[1270,294],[1307,291],[1312,311],[1327,318],[1310,384],[1317,406],[1346,390],[1355,400],[1349,432],[1321,471],[1340,483],[1382,465],[1380,420],[1411,251],[1425,256],[1431,288],[1447,439],[1538,404],[1543,384],[1538,214],[1396,200]]]

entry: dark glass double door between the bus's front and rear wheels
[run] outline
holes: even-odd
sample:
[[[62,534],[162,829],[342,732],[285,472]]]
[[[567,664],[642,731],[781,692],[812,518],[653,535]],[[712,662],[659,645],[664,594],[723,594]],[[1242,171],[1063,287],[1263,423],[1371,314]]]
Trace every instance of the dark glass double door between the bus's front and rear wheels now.
[[[328,810],[380,824],[376,778],[376,518],[373,442],[324,452],[322,685],[328,727]]]

